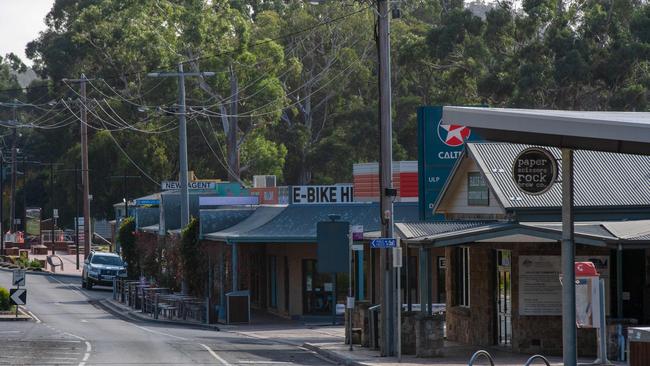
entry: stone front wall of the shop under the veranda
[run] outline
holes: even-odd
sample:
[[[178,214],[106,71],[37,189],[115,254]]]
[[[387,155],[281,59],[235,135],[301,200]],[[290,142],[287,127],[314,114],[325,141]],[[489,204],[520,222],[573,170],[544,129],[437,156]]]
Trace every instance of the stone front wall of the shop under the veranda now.
[[[447,258],[447,338],[465,344],[489,346],[496,343],[496,254],[495,249],[512,251],[512,350],[522,353],[562,353],[561,316],[520,316],[519,256],[560,255],[557,243],[494,243],[470,245],[470,306],[454,303],[455,248],[446,249]],[[608,249],[577,246],[576,255],[610,255]],[[611,267],[610,267],[611,268]],[[578,330],[578,354],[595,355],[595,332]]]

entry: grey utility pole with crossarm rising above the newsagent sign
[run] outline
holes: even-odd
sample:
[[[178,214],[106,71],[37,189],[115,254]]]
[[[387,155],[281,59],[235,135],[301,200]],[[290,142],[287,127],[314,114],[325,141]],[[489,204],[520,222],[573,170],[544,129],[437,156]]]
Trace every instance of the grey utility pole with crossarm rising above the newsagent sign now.
[[[188,191],[188,166],[187,166],[187,121],[185,119],[185,77],[186,76],[214,76],[214,72],[184,72],[183,63],[178,63],[178,72],[152,72],[149,77],[177,77],[178,78],[178,153],[180,162],[181,186],[181,227],[190,222],[190,199]]]

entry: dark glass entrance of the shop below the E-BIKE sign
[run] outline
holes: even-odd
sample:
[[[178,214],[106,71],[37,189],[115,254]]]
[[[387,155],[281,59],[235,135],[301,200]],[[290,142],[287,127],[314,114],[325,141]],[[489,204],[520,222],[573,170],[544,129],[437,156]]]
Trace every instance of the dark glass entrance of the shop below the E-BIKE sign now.
[[[332,276],[318,273],[315,259],[304,259],[302,261],[303,314],[332,314],[333,290]]]

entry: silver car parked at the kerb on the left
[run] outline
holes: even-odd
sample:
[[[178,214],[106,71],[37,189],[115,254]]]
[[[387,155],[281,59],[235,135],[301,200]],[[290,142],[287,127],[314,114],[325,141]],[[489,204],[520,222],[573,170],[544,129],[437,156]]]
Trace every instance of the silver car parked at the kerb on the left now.
[[[112,286],[116,276],[126,277],[126,265],[119,255],[91,252],[84,261],[81,287],[90,290],[94,285]]]

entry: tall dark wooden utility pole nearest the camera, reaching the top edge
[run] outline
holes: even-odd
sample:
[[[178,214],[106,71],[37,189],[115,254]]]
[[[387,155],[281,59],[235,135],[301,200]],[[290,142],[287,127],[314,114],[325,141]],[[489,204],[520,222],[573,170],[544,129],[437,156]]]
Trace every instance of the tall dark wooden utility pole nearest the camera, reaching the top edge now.
[[[379,192],[381,233],[384,238],[393,237],[393,132],[391,122],[391,82],[390,82],[390,18],[388,0],[378,0],[378,48],[379,48]],[[381,298],[381,355],[396,354],[395,324],[395,269],[391,249],[380,249],[380,268],[382,271],[383,296]]]

